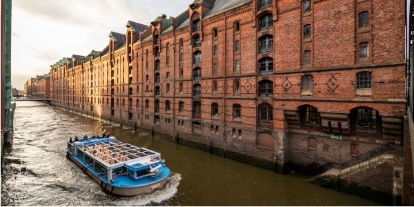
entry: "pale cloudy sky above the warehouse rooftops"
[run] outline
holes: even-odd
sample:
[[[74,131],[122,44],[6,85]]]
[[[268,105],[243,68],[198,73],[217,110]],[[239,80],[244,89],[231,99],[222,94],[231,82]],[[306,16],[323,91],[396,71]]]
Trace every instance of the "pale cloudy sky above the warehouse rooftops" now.
[[[193,0],[13,0],[12,86],[50,72],[63,57],[103,50],[111,31],[126,34],[128,20],[149,25],[177,17]]]

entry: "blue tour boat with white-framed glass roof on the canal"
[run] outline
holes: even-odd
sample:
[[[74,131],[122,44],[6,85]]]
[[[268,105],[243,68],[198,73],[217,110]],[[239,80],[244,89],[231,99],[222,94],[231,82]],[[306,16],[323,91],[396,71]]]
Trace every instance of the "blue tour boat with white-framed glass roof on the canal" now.
[[[111,195],[131,197],[162,188],[171,171],[161,154],[115,137],[68,142],[66,156]]]

